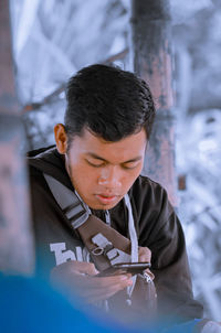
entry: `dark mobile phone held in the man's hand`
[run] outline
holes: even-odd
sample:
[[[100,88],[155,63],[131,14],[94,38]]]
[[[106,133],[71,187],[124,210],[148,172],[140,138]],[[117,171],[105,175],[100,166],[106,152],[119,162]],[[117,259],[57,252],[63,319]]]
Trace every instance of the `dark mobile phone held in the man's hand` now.
[[[145,269],[150,268],[150,262],[120,262],[115,264],[112,267],[101,271],[96,277],[110,277],[116,275],[131,273],[138,275],[141,273]]]

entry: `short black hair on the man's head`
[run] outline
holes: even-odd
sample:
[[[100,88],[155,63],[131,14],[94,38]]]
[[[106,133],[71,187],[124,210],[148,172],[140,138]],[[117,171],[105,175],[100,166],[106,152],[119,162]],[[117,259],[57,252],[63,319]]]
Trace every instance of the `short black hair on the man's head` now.
[[[149,139],[156,114],[152,96],[130,72],[103,64],[84,67],[70,78],[66,101],[69,141],[84,129],[116,142],[145,128]]]

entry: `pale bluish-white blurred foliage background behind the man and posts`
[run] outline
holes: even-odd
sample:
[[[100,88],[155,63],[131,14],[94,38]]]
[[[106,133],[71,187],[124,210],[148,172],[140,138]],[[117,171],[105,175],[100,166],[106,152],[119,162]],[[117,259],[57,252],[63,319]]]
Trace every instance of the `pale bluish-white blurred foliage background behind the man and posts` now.
[[[178,215],[196,297],[221,320],[221,1],[171,0]],[[82,66],[128,68],[130,1],[10,0],[24,150],[49,146]]]

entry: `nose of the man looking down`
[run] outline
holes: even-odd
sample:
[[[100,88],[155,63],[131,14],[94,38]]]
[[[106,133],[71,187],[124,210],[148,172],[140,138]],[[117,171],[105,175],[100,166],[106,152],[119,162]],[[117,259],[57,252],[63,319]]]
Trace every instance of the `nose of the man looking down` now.
[[[120,182],[120,172],[116,165],[108,165],[102,170],[102,173],[98,179],[98,184],[109,187],[116,189],[122,186]]]

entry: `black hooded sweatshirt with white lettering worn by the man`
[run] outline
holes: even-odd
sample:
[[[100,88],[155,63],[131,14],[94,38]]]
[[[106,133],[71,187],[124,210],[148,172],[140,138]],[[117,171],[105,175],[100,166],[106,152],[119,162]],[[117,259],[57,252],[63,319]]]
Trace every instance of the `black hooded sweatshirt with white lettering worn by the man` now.
[[[88,260],[84,245],[62,213],[42,174],[50,174],[73,190],[63,157],[52,147],[30,152],[28,162],[38,271],[48,275],[55,265],[69,259]],[[202,307],[192,298],[182,227],[166,191],[158,183],[140,175],[128,194],[139,246],[151,250],[151,270],[159,309],[167,309],[167,313],[183,320],[201,318]],[[105,221],[105,211],[93,213]],[[109,214],[112,227],[128,237],[124,201],[109,210]]]

